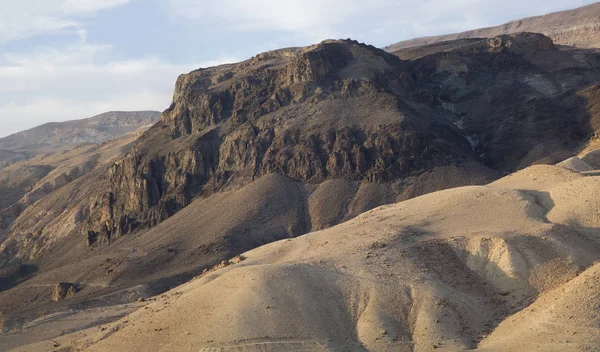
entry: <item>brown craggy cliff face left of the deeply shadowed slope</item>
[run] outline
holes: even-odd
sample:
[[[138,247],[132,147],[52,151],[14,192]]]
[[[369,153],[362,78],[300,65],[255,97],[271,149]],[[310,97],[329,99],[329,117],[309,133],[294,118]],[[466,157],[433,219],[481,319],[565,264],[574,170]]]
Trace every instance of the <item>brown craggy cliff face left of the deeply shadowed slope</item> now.
[[[386,182],[473,160],[454,126],[411,111],[404,100],[415,84],[397,57],[351,41],[183,75],[161,122],[111,168],[90,243],[268,173]]]

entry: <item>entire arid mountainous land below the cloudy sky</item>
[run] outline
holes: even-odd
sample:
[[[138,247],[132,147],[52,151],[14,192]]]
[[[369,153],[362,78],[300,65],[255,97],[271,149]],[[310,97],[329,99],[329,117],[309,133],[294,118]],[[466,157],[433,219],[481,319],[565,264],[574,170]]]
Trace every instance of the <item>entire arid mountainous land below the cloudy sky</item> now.
[[[0,139],[0,350],[600,349],[597,5]]]

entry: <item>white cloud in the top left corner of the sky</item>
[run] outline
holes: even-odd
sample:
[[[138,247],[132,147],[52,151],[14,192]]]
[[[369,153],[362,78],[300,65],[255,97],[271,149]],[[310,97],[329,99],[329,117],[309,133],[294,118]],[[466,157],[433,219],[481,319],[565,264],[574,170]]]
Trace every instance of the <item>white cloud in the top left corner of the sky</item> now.
[[[39,34],[78,32],[82,19],[132,0],[0,0],[0,43]]]

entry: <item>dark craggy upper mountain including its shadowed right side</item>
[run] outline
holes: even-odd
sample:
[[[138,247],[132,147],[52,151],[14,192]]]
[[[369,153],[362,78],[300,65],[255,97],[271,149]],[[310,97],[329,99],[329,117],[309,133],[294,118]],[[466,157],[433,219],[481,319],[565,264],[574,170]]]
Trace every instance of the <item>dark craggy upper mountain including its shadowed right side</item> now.
[[[109,243],[269,173],[381,184],[440,167],[483,180],[558,162],[599,127],[586,105],[597,102],[597,58],[519,34],[414,62],[330,41],[195,71],[112,167],[84,227]]]

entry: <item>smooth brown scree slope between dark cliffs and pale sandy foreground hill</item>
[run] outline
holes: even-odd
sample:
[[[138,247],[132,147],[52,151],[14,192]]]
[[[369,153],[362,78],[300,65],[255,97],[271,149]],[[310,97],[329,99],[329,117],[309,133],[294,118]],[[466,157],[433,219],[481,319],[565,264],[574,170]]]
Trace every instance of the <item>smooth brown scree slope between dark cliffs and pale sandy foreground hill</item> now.
[[[61,198],[69,194],[76,196],[73,203],[79,202],[79,197],[85,199],[84,190],[74,193],[71,188],[81,188],[79,182],[93,187],[96,173],[55,192],[58,199],[53,204],[63,204]],[[472,177],[469,173],[461,175],[455,168],[440,168],[428,173],[427,179],[407,180],[406,190],[398,193],[392,183],[332,180],[315,187],[269,174],[241,189],[198,199],[155,228],[124,236],[110,246],[93,247],[92,251],[84,236],[54,238],[44,244],[46,247],[39,247],[42,254],[35,263],[40,271],[0,292],[4,312],[0,321],[5,334],[0,337],[0,346],[55,338],[85,327],[76,322],[61,331],[54,318],[45,325],[31,324],[50,312],[59,317],[71,312],[68,317],[89,307],[101,309],[150,297],[248,249],[295,237],[311,228],[329,227],[375,206],[422,194],[427,191],[420,186],[423,183],[450,187],[484,182]],[[350,191],[340,192],[344,189]],[[29,216],[35,213],[27,211],[22,217]],[[64,232],[64,227],[73,226],[70,216],[63,218],[63,228],[48,227],[46,231]],[[68,300],[51,302],[50,292],[57,282],[77,282],[81,291]],[[76,314],[74,319],[86,314]]]

